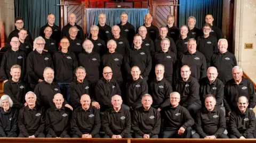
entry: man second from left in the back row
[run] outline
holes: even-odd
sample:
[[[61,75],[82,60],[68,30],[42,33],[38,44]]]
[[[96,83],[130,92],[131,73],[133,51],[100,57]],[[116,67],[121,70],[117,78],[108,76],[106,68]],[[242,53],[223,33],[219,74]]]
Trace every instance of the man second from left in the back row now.
[[[52,29],[52,35],[50,36],[51,39],[56,41],[56,48],[59,47],[59,42],[60,42],[60,27],[54,24],[55,22],[55,15],[53,13],[49,13],[47,16],[47,23],[45,26],[41,27],[39,35],[42,37],[45,37],[45,28],[50,27]]]

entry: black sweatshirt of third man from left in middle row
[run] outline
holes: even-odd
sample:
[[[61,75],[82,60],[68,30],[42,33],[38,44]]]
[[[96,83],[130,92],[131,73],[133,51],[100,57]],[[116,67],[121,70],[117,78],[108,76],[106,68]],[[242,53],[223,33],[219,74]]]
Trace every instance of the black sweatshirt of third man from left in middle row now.
[[[71,82],[76,79],[77,59],[73,52],[62,51],[53,54],[53,65],[55,71],[55,79],[57,82]]]

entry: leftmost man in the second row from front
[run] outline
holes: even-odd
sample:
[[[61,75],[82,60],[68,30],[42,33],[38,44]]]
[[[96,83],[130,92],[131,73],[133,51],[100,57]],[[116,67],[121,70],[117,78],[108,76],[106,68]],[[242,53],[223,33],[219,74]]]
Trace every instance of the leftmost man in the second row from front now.
[[[26,86],[25,83],[20,80],[21,67],[14,64],[11,68],[12,78],[4,83],[4,94],[9,95],[13,101],[13,107],[18,110],[27,104],[25,103]]]

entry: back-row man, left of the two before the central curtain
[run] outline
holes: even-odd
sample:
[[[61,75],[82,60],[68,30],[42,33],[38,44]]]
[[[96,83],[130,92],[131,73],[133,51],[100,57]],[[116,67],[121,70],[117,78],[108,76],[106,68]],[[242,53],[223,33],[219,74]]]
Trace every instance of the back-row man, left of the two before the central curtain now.
[[[106,14],[99,13],[99,24],[97,25],[99,29],[99,37],[104,40],[105,43],[108,42],[108,39],[112,37],[111,27],[106,24]]]

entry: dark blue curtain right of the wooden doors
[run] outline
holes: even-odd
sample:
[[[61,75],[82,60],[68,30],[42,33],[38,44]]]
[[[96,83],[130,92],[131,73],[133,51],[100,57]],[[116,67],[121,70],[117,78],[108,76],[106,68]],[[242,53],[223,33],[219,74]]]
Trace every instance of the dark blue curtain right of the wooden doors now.
[[[196,27],[201,29],[206,14],[212,14],[213,25],[222,26],[222,0],[180,0],[179,27],[187,24],[189,16],[195,16]]]

